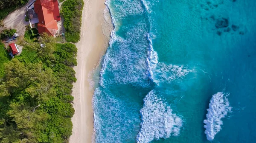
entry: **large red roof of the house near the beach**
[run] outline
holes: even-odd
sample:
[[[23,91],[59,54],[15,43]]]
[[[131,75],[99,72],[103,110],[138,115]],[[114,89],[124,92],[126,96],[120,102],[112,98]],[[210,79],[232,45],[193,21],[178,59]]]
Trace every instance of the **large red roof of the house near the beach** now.
[[[54,36],[58,31],[57,21],[60,20],[58,0],[36,0],[34,3],[35,13],[38,14],[38,32],[46,32]]]

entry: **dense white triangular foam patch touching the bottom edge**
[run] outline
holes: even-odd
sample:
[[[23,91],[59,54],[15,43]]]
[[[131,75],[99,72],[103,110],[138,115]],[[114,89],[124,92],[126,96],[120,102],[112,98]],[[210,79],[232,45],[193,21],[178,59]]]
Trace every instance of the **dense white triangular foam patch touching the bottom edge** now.
[[[159,138],[177,136],[180,133],[182,119],[172,113],[171,107],[152,90],[143,99],[144,106],[140,110],[142,123],[137,135],[137,143],[149,143]]]

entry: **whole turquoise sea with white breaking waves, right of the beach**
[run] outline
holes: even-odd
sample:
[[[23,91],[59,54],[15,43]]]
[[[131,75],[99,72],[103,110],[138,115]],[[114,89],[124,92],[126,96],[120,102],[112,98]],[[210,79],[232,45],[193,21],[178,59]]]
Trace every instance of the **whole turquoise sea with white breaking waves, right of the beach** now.
[[[254,0],[108,0],[96,143],[255,143]]]

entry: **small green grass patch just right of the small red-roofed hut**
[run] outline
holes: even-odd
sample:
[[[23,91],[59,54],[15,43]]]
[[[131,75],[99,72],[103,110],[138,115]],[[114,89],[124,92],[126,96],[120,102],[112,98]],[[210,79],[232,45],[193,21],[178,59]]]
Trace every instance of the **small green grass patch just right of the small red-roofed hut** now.
[[[38,58],[38,55],[35,51],[22,49],[22,52],[19,56],[15,56],[20,62],[24,62],[26,64],[29,63],[36,63],[41,61],[41,59]]]

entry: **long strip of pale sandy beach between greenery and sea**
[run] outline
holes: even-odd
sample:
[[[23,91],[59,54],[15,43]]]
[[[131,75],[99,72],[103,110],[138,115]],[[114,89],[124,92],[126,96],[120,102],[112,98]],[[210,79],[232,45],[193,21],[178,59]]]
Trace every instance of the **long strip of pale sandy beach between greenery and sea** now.
[[[72,118],[73,135],[70,143],[91,143],[93,137],[92,96],[94,89],[89,81],[93,70],[99,65],[101,57],[108,47],[111,32],[111,19],[104,4],[105,0],[84,0],[82,13],[81,40],[76,43],[78,48],[76,71],[77,81],[73,87]],[[107,17],[107,18],[106,18]]]

